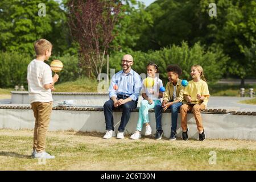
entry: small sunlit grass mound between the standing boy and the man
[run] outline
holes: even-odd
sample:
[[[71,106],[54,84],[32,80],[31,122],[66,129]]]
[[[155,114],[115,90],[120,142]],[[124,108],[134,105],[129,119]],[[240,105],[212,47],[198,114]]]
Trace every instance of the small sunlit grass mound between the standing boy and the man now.
[[[68,81],[55,84],[55,92],[97,92],[97,80],[78,78],[76,81]]]

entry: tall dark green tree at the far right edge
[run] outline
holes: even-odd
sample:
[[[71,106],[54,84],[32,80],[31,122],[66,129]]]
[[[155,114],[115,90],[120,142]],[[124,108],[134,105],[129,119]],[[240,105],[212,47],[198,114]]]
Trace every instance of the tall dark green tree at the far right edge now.
[[[256,44],[256,2],[254,0],[220,0],[217,18],[212,18],[208,28],[213,45],[229,55],[228,72],[241,78],[241,85],[255,69],[249,49]],[[255,76],[255,75],[254,75]]]

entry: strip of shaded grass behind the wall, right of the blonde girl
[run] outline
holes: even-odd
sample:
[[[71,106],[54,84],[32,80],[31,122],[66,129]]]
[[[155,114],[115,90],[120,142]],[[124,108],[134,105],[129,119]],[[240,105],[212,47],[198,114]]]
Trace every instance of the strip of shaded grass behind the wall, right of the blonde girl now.
[[[234,84],[209,84],[209,92],[211,96],[234,96],[240,97],[240,85]],[[249,88],[253,88],[256,90],[256,84],[249,85],[246,84],[244,86],[246,92],[248,92]]]

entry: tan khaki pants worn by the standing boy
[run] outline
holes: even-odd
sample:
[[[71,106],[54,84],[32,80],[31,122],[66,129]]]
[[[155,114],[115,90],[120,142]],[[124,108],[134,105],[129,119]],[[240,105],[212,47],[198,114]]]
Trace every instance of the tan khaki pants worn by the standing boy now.
[[[43,152],[46,149],[46,132],[52,113],[52,101],[33,102],[31,106],[35,117],[33,150]]]

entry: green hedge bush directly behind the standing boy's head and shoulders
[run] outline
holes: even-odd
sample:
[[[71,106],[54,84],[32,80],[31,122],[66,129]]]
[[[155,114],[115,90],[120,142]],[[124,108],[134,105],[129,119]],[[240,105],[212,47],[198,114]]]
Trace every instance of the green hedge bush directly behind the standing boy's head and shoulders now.
[[[27,88],[27,66],[32,59],[33,57],[18,52],[0,52],[0,88],[14,88],[15,85]],[[54,59],[61,60],[64,65],[63,70],[58,73],[58,82],[73,81],[79,77],[81,70],[77,56],[53,56],[45,63],[49,65]]]

